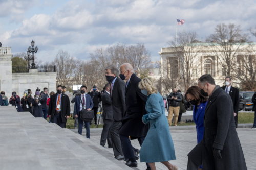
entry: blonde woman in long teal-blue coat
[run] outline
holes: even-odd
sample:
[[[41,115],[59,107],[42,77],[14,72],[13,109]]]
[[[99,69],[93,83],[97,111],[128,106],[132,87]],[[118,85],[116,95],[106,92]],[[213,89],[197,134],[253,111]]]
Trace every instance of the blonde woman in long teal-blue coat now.
[[[156,169],[155,162],[163,163],[168,169],[177,169],[168,162],[175,160],[176,156],[162,96],[157,92],[151,79],[142,79],[139,88],[142,89],[143,94],[148,95],[147,114],[142,117],[142,122],[150,124],[150,129],[141,146],[140,161],[148,163],[152,170]]]

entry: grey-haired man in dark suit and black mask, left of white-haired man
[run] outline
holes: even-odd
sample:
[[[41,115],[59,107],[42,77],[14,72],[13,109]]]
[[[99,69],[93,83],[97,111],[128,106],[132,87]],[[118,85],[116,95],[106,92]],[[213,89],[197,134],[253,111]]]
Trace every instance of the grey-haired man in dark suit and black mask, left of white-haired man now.
[[[125,113],[125,83],[120,78],[117,77],[119,74],[118,69],[110,65],[105,68],[106,80],[111,83],[110,85],[110,95],[112,101],[113,109],[113,124],[110,128],[110,136],[112,140],[112,147],[114,151],[115,158],[117,160],[124,160],[121,141],[119,137],[119,129],[122,126],[122,118]]]

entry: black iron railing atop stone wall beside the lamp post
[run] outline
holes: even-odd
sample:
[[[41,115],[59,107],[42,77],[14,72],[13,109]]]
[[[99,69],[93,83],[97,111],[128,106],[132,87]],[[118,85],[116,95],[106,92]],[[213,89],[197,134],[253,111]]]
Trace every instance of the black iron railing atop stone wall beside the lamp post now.
[[[55,65],[36,65],[37,72],[56,72]],[[28,66],[12,66],[12,73],[29,72]]]

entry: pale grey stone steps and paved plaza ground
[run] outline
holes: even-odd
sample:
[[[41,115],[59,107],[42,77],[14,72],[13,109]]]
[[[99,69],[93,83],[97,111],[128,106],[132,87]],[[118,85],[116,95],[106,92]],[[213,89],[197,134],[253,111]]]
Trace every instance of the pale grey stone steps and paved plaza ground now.
[[[0,169],[131,169],[117,161],[113,150],[100,146],[102,128],[91,129],[91,139],[77,129],[62,129],[29,112],[17,112],[14,106],[0,106]],[[73,131],[73,132],[72,132]],[[256,130],[237,130],[247,167],[256,169]],[[186,169],[187,153],[196,145],[195,126],[171,127],[177,160],[170,161]],[[137,140],[134,147],[140,148]],[[158,169],[166,169],[157,163]],[[140,163],[133,169],[146,169]]]

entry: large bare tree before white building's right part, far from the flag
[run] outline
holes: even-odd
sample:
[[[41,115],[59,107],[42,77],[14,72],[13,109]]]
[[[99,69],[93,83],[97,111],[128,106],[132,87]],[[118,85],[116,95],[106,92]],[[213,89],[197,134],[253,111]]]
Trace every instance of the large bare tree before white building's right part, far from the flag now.
[[[240,26],[236,26],[233,23],[217,25],[215,33],[207,38],[207,41],[215,42],[215,55],[218,57],[225,75],[232,76],[231,74],[235,72],[236,56],[242,50],[241,45],[246,40],[247,35],[243,34]]]

